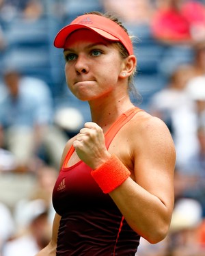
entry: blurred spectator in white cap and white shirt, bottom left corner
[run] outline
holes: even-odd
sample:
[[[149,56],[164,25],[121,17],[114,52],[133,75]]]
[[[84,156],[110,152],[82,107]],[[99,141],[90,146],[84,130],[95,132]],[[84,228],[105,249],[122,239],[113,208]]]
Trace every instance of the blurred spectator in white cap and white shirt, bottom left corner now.
[[[22,205],[23,233],[3,246],[2,256],[33,256],[43,248],[50,237],[51,225],[44,201],[40,199]]]

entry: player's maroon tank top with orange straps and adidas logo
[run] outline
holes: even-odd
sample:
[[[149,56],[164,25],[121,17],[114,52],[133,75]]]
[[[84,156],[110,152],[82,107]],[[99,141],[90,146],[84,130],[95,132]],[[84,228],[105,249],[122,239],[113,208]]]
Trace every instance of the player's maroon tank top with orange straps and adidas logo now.
[[[122,114],[105,133],[107,149],[120,128],[137,112]],[[109,194],[104,194],[83,161],[67,167],[73,146],[53,190],[53,206],[61,216],[57,256],[134,256],[140,236],[129,227]]]

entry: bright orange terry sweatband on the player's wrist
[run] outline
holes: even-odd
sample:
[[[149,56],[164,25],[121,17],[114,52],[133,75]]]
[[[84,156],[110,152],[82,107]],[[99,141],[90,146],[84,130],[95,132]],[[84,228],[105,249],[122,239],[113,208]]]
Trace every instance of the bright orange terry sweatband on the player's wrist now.
[[[91,175],[96,183],[98,183],[102,192],[107,194],[118,188],[131,175],[131,172],[122,164],[118,157],[111,155],[107,162],[96,170],[92,170]]]

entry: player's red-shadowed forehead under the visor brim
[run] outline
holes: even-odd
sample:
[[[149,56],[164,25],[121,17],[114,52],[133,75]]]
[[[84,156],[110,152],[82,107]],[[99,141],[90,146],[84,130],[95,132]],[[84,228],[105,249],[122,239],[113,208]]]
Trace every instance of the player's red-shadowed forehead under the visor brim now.
[[[100,36],[98,33],[90,29],[78,29],[72,32],[70,36],[68,36],[68,38],[66,39],[64,48],[66,49],[76,44],[79,45],[84,43],[109,44],[111,42],[109,42],[109,40],[106,40],[105,38]]]

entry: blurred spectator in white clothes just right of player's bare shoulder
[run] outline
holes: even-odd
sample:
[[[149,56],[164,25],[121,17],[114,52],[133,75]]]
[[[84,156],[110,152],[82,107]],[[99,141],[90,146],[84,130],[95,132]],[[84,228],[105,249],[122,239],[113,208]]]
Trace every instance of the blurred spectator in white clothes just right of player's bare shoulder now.
[[[197,149],[195,108],[185,90],[191,77],[191,65],[176,67],[167,86],[152,96],[149,106],[151,114],[164,120],[169,127],[175,141],[179,165],[186,162]]]

